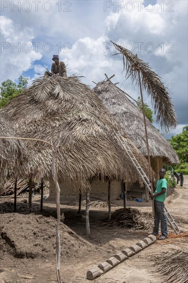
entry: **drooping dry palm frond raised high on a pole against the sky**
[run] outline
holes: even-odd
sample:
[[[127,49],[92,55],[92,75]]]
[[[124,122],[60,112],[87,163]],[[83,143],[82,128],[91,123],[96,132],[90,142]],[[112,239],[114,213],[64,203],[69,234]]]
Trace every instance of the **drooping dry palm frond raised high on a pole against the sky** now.
[[[125,77],[130,77],[132,82],[138,81],[138,70],[140,71],[143,90],[152,98],[154,113],[157,116],[156,122],[160,122],[165,131],[176,128],[177,118],[171,97],[160,77],[153,72],[148,63],[139,59],[133,52],[114,42],[112,43],[122,54],[124,70],[126,69]]]

